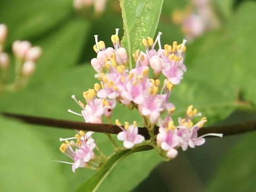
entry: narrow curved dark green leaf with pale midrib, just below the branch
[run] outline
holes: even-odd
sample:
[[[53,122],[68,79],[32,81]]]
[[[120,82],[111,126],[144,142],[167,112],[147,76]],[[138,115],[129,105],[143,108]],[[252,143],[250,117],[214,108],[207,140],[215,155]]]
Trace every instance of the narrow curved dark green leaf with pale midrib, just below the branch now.
[[[103,167],[100,169],[100,171],[98,171],[95,175],[93,175],[93,177],[91,177],[89,180],[87,180],[85,183],[83,183],[83,185],[81,187],[79,187],[77,189],[77,192],[79,191],[97,191],[98,188],[100,187],[101,183],[106,179],[106,177],[108,176],[108,174],[111,172],[111,170],[114,169],[114,167],[122,161],[122,159],[124,159],[126,156],[131,155],[135,152],[138,151],[145,151],[145,150],[149,150],[151,149],[151,146],[141,146],[141,147],[137,147],[133,150],[125,150],[125,151],[121,151],[120,153],[117,153],[113,156],[111,156],[108,160],[108,162],[103,165]],[[133,167],[134,169],[134,167]],[[124,178],[122,178],[124,180]],[[124,186],[122,186],[124,187]],[[112,191],[113,188],[115,188],[115,186],[112,185]],[[106,188],[104,188],[104,190],[106,191]]]

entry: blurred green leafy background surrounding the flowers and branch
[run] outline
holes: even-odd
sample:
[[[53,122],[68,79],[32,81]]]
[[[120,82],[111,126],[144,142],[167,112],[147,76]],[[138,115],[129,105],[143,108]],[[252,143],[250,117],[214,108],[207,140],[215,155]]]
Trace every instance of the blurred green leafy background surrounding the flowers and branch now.
[[[193,104],[209,124],[230,124],[256,119],[256,2],[213,0],[221,27],[208,31],[187,46],[188,71],[175,87],[171,101],[175,117]],[[94,34],[110,46],[110,36],[123,23],[118,1],[108,1],[106,10],[76,12],[71,0],[1,0],[0,23],[9,27],[6,43],[27,39],[43,49],[29,85],[15,93],[0,95],[0,111],[83,121],[68,114],[78,110],[71,94],[94,84],[90,60]],[[181,42],[180,27],[171,13],[188,1],[165,0],[158,31],[162,43]],[[12,58],[13,60],[13,58]],[[129,112],[129,113],[127,113]],[[122,114],[120,116],[120,114]],[[140,121],[138,114],[118,107],[115,119]],[[75,127],[74,127],[75,128]],[[0,191],[74,191],[94,173],[79,169],[74,174],[59,151],[59,138],[74,131],[22,124],[0,116]],[[95,134],[98,145],[110,153],[105,135]],[[206,144],[161,163],[156,151],[133,154],[118,164],[99,191],[256,191],[256,133]]]

